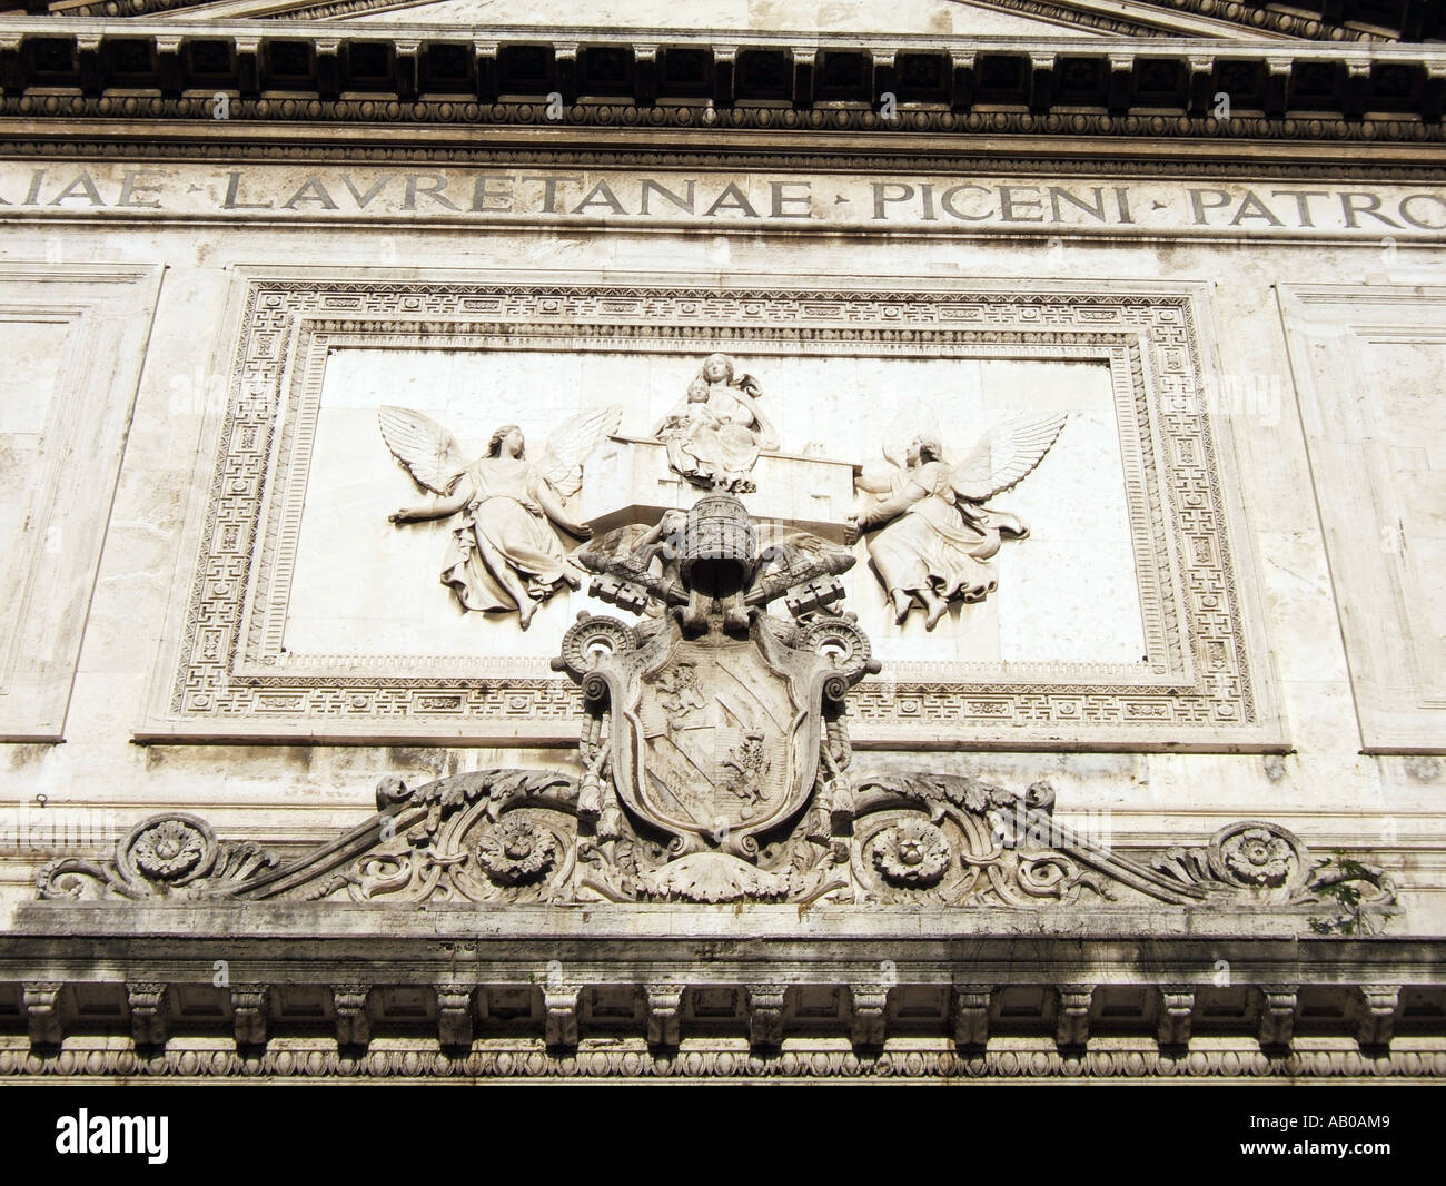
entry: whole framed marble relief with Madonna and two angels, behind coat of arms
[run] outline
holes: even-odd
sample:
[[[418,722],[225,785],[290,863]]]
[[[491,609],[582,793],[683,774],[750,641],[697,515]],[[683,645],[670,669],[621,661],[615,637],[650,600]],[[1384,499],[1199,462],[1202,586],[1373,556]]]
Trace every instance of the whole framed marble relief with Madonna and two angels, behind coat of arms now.
[[[198,479],[174,678],[137,739],[571,745],[583,700],[548,660],[578,609],[604,609],[590,589],[610,577],[584,580],[584,558],[645,548],[658,567],[669,513],[732,487],[761,551],[852,548],[842,580],[888,662],[850,699],[865,746],[1283,745],[1232,425],[1200,396],[1202,288],[616,279],[239,269],[243,377]],[[432,375],[480,360],[464,382],[489,411],[395,406],[398,350]],[[899,356],[933,373],[895,401]],[[1008,396],[1011,369],[1037,364],[1021,356],[1069,372],[1056,411]],[[956,364],[995,367],[1008,398],[957,419]],[[863,377],[830,388],[850,367]],[[645,376],[651,404],[619,421]],[[837,422],[800,417],[816,398]],[[431,498],[398,511],[415,486]],[[1084,612],[1109,619],[1108,649],[1080,641]],[[995,638],[976,648],[980,622]]]

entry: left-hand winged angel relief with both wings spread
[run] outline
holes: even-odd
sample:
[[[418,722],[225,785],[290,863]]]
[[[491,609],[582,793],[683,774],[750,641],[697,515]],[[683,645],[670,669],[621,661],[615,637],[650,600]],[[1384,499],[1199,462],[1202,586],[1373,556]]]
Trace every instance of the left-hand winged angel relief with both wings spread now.
[[[440,495],[422,506],[403,506],[393,524],[441,519],[464,512],[453,531],[454,553],[442,568],[464,609],[506,613],[516,609],[522,629],[538,603],[561,586],[580,589],[583,571],[562,553],[552,531],[580,539],[593,532],[567,511],[581,489],[583,457],[616,431],[622,408],[602,408],[567,419],[552,432],[541,464],[526,457],[522,431],[509,424],[492,434],[476,461],[437,421],[408,408],[377,415],[382,438],[418,486]]]

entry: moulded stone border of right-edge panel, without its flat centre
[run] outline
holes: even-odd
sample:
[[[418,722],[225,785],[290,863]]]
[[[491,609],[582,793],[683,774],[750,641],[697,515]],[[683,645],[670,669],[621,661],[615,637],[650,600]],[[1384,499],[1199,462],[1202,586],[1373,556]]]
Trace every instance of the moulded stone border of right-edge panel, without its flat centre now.
[[[1361,357],[1365,344],[1446,350],[1446,288],[1283,283],[1280,304],[1362,746],[1446,754],[1446,673],[1421,616],[1430,590],[1398,534],[1401,476],[1378,438],[1384,409]]]

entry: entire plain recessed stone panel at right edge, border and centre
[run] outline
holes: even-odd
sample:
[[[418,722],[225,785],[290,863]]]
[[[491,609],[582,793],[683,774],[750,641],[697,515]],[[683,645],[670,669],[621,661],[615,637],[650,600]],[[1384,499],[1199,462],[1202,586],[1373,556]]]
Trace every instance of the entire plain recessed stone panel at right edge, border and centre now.
[[[1368,751],[1446,752],[1446,289],[1283,285]]]

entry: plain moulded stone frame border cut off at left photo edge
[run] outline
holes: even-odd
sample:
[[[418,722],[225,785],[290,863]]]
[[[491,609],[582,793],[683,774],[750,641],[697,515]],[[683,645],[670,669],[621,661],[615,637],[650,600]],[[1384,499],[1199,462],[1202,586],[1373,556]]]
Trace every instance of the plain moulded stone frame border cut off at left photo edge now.
[[[0,741],[64,741],[159,288],[159,266],[0,263],[0,320],[69,327],[26,525],[0,570]]]

